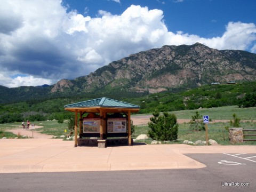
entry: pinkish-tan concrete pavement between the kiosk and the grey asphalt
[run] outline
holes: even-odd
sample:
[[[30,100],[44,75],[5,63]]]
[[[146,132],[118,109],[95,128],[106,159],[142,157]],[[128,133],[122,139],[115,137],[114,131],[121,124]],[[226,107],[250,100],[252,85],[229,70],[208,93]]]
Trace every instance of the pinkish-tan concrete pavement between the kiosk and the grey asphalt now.
[[[0,140],[0,173],[198,169],[187,153],[251,153],[256,146],[139,145],[74,147],[60,139]]]

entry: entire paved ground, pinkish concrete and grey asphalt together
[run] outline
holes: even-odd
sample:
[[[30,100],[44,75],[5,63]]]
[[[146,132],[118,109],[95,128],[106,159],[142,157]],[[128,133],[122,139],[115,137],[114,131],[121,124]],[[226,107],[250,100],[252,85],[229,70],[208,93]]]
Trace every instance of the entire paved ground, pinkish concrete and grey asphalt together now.
[[[0,191],[254,191],[256,146],[0,140]],[[249,183],[249,186],[237,186]],[[229,186],[233,185],[233,186]]]

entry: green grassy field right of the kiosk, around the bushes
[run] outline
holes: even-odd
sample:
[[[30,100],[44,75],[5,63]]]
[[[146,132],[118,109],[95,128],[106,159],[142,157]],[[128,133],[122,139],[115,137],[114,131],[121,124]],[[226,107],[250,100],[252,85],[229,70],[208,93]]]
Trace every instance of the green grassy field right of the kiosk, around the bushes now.
[[[231,120],[233,114],[236,114],[241,120],[247,120],[247,122],[240,123],[244,129],[256,129],[256,107],[251,108],[239,108],[237,106],[218,107],[209,109],[197,109],[197,110],[182,110],[172,111],[178,119],[191,119],[191,116],[195,115],[196,111],[201,115],[209,115],[209,118],[213,120]],[[151,114],[148,114],[151,115]],[[191,131],[189,130],[189,123],[179,124],[178,140],[171,143],[183,143],[184,140],[205,141],[204,131]],[[217,141],[220,145],[229,145],[228,131],[225,127],[230,127],[229,123],[209,123],[209,139]],[[148,126],[136,126],[134,137],[136,138],[140,134],[147,134]],[[151,139],[145,140],[146,143],[150,143]],[[239,145],[256,145],[256,141],[246,141]]]

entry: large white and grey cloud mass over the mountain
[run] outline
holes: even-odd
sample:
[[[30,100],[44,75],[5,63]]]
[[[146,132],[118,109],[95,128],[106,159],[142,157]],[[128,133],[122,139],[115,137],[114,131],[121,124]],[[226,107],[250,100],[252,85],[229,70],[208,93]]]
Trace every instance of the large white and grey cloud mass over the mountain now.
[[[0,85],[53,84],[163,45],[200,42],[220,50],[256,52],[254,23],[229,22],[222,36],[203,38],[169,31],[163,19],[162,10],[139,5],[119,15],[99,10],[97,17],[90,17],[68,12],[60,0],[4,0],[0,7]],[[11,77],[15,73],[26,76]]]

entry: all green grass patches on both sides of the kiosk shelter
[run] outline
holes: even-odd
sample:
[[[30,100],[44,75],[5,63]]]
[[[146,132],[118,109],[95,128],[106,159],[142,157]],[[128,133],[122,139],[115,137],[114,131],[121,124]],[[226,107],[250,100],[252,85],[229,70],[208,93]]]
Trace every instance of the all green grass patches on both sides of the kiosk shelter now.
[[[241,127],[244,129],[256,129],[255,122],[256,120],[256,108],[238,108],[236,106],[229,107],[219,107],[211,109],[198,109],[198,110],[183,110],[183,111],[173,111],[172,113],[176,114],[179,119],[191,119],[192,115],[195,115],[195,111],[198,111],[201,115],[209,115],[210,119],[232,119],[232,115],[236,114],[238,118],[242,120],[248,120],[247,122],[241,122]],[[151,115],[151,114],[150,114]],[[42,128],[37,129],[37,131],[45,134],[60,136],[69,132],[67,121],[63,123],[58,123],[58,121],[44,121],[44,122],[31,122],[37,126],[43,126]],[[2,137],[8,137],[9,133],[6,133],[6,130],[9,129],[18,129],[20,128],[21,122],[17,123],[8,123],[0,124],[0,139]],[[189,130],[189,123],[179,124],[178,140],[172,141],[169,143],[183,143],[184,140],[197,141],[205,140],[204,131],[191,131]],[[229,123],[209,123],[209,139],[217,141],[220,145],[229,145],[228,131],[225,129],[226,126],[229,126]],[[148,126],[135,126],[135,132],[133,139],[135,139],[140,134],[148,133]],[[3,136],[4,135],[4,136]],[[10,137],[13,138],[13,135]],[[151,139],[141,141],[150,143]],[[240,145],[256,145],[255,141],[246,141]]]

